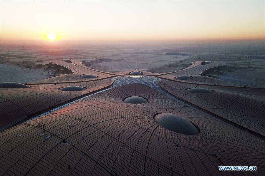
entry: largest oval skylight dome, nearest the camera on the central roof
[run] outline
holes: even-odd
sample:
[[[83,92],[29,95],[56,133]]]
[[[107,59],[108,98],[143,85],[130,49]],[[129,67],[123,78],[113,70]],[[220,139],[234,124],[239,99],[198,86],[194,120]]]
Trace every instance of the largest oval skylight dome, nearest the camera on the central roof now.
[[[162,127],[176,133],[185,135],[196,135],[199,133],[198,128],[193,123],[173,113],[157,114],[154,116],[154,120]]]

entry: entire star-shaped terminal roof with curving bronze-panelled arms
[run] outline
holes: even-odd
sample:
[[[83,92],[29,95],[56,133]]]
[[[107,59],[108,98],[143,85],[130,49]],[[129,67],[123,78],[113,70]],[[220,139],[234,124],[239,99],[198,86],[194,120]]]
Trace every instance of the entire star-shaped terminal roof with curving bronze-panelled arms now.
[[[0,88],[0,175],[265,175],[265,89],[201,76],[223,63],[130,78],[70,61],[50,63],[73,74]]]

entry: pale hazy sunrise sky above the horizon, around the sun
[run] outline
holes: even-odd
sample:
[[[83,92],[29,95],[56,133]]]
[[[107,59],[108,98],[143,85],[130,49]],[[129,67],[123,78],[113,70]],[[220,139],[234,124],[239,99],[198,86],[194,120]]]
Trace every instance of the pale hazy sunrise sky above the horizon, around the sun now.
[[[264,1],[1,1],[1,41],[264,39]]]

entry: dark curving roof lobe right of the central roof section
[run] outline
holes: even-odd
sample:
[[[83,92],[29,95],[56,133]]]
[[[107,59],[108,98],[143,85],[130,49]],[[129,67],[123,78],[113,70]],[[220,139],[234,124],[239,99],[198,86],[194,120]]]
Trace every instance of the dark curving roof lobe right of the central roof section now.
[[[168,81],[160,81],[159,85],[169,93],[196,107],[207,110],[260,136],[265,136],[264,89],[257,88],[252,94],[249,90],[253,91],[253,88],[206,86]]]

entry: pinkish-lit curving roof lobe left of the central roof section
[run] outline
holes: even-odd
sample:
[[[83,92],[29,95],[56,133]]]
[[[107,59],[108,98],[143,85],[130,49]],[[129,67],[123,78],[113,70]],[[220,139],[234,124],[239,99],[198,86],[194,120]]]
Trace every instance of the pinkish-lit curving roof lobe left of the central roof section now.
[[[1,88],[0,131],[10,128],[38,112],[41,113],[93,91],[106,88],[112,83],[112,80],[102,80],[82,83],[29,85],[32,88]],[[83,90],[73,92],[58,89],[68,86],[81,86]]]

